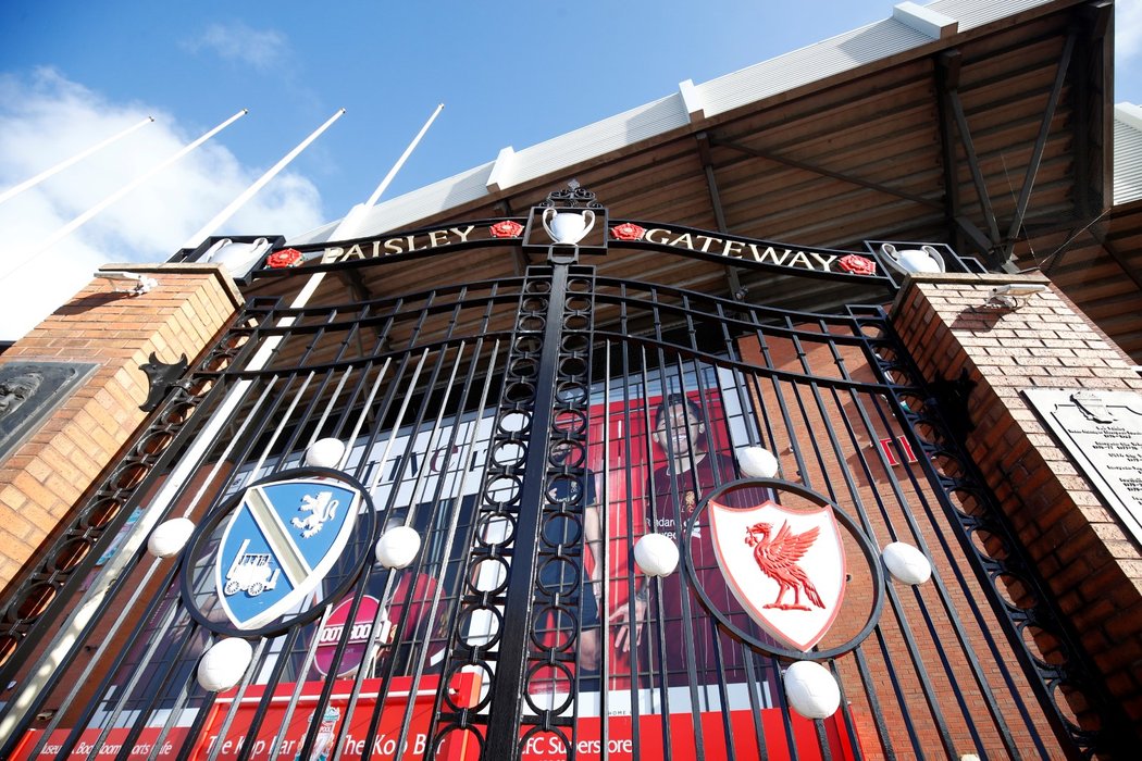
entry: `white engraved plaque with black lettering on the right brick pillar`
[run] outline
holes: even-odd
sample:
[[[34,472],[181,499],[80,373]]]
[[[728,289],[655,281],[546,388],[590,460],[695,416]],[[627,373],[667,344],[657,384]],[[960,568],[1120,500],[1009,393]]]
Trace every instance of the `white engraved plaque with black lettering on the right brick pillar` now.
[[[1023,395],[1142,543],[1142,394],[1026,389]]]

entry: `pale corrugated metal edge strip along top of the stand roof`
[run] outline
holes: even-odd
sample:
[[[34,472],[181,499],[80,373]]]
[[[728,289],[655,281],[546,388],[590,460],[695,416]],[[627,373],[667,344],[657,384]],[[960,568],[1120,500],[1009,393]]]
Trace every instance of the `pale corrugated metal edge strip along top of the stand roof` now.
[[[951,17],[963,32],[1047,5],[1070,3],[1057,0],[942,0],[926,9]],[[525,184],[640,143],[653,143],[656,138],[675,130],[689,127],[697,131],[705,121],[735,108],[856,71],[932,42],[932,37],[901,21],[887,18],[702,84],[686,83],[691,102],[701,107],[693,120],[687,113],[685,98],[677,92],[522,151],[505,151],[497,160],[500,163],[493,161],[379,204],[365,216],[360,234],[408,227],[489,196],[493,189]],[[489,187],[493,173],[496,187]],[[301,245],[328,240],[336,227],[336,224],[324,225],[297,236],[290,243]]]

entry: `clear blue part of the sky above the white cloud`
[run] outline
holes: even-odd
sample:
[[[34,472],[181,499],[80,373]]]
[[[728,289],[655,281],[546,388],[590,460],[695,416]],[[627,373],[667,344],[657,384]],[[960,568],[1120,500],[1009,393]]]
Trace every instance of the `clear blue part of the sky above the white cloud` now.
[[[167,112],[268,167],[337,108],[293,165],[328,218],[363,201],[439,102],[399,195],[781,52],[892,5],[692,2],[29,2],[0,9],[3,70],[50,66],[112,103]],[[726,23],[726,19],[733,23]]]

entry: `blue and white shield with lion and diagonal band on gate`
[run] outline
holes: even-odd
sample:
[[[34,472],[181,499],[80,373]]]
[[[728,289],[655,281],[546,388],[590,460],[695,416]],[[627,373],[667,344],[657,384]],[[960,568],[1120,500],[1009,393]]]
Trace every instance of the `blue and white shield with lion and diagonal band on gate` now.
[[[320,478],[246,489],[215,562],[231,622],[257,629],[313,592],[348,543],[360,505],[357,489]]]

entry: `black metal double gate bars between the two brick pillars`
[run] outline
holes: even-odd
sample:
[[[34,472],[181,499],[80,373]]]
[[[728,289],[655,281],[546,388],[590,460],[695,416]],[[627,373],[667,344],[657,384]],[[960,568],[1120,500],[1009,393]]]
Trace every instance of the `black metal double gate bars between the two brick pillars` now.
[[[62,540],[81,559],[9,606],[8,756],[1063,755],[1065,706],[1034,697],[1046,656],[1023,653],[1018,601],[991,597],[1016,553],[879,309],[781,313],[560,257],[338,307],[255,300],[153,420]],[[227,511],[311,472],[295,469],[330,438],[372,507],[304,602],[235,629],[216,588]],[[749,447],[789,489],[740,481]],[[706,497],[739,481],[845,518],[844,601],[803,654],[694,549]],[[198,541],[148,554],[178,516]],[[395,526],[420,537],[405,568],[373,558]],[[682,547],[673,574],[640,570],[648,533]],[[893,541],[933,560],[932,583],[882,586]],[[224,637],[250,641],[250,665],[208,691],[198,664]],[[829,669],[836,714],[789,709],[793,659]]]

